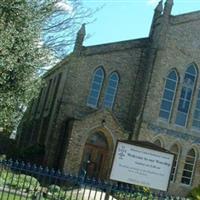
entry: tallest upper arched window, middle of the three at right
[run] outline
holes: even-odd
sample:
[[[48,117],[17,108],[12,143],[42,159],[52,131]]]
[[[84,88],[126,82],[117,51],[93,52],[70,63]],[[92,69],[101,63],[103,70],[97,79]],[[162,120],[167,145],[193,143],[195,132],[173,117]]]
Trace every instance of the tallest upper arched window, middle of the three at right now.
[[[191,64],[185,72],[181,89],[181,96],[178,104],[178,111],[176,114],[175,123],[180,126],[185,126],[187,122],[190,104],[192,101],[192,94],[196,83],[196,76],[196,67],[193,64]]]

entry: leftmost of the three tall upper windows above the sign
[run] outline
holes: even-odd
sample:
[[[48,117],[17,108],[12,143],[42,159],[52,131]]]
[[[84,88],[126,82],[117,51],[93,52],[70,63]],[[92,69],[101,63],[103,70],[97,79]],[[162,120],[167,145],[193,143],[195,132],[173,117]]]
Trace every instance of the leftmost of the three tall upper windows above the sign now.
[[[178,76],[175,70],[171,71],[165,81],[159,117],[169,121],[176,93]]]

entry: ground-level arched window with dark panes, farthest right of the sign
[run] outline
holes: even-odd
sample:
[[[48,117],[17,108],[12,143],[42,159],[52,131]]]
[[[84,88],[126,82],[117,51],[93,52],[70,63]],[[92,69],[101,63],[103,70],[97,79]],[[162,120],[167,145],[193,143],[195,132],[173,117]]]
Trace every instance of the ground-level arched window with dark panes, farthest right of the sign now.
[[[183,174],[181,183],[184,183],[186,185],[192,184],[192,176],[194,173],[194,167],[196,162],[196,155],[194,149],[191,149],[185,159]]]

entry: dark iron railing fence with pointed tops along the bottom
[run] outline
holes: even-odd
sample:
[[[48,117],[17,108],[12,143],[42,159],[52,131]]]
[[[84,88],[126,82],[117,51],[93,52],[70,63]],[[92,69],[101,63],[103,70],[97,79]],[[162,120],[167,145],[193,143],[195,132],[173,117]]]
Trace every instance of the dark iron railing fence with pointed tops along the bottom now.
[[[73,176],[24,162],[0,161],[0,200],[180,200],[127,184]]]

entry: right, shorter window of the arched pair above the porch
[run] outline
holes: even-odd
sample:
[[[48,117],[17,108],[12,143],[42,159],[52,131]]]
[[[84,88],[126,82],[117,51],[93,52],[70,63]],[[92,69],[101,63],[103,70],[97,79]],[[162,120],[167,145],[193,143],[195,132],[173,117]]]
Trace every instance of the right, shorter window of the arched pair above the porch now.
[[[117,92],[118,83],[119,83],[119,75],[117,74],[117,72],[113,72],[110,75],[108,86],[106,88],[106,93],[103,103],[104,107],[112,108]]]

